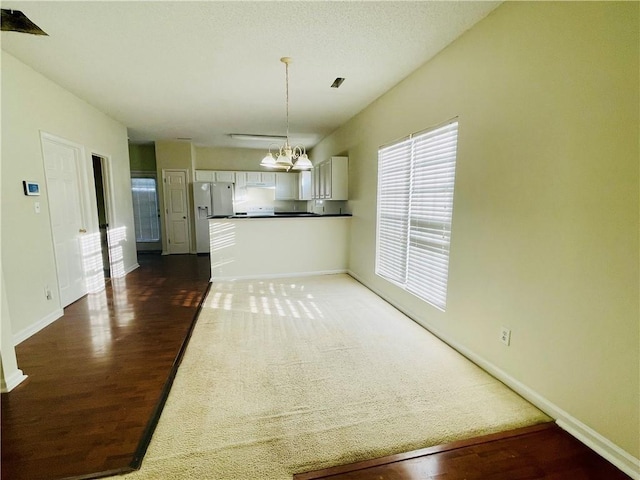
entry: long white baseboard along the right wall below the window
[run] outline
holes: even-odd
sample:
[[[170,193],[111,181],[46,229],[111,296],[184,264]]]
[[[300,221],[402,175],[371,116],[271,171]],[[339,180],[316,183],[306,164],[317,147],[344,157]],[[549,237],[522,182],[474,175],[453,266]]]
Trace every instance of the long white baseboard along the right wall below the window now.
[[[630,453],[626,452],[609,439],[599,434],[589,426],[582,423],[580,420],[564,411],[558,405],[549,401],[547,398],[540,395],[535,390],[531,389],[527,385],[523,384],[519,380],[515,379],[511,375],[507,374],[504,370],[501,370],[496,365],[491,362],[488,362],[484,358],[475,354],[471,350],[466,347],[460,345],[455,340],[451,339],[447,335],[444,335],[442,332],[433,328],[431,325],[427,324],[419,320],[419,316],[412,312],[411,310],[401,307],[397,305],[394,301],[388,299],[383,293],[379,292],[377,289],[370,287],[366,284],[358,275],[353,273],[352,271],[347,272],[350,276],[360,282],[362,285],[367,287],[373,293],[378,295],[380,298],[393,305],[395,308],[400,310],[402,313],[411,318],[414,322],[421,325],[423,328],[431,332],[433,335],[438,337],[440,340],[445,342],[454,350],[458,351],[460,354],[464,355],[466,358],[471,360],[473,363],[478,365],[480,368],[485,370],[487,373],[491,374],[502,383],[511,388],[514,392],[518,393],[520,396],[531,402],[533,405],[538,407],[540,410],[545,412],[547,415],[555,419],[557,425],[563,430],[570,433],[573,437],[580,440],[587,447],[591,448],[593,451],[598,453],[603,458],[607,459],[613,465],[618,467],[624,473],[629,475],[634,480],[640,480],[640,460],[635,458]]]

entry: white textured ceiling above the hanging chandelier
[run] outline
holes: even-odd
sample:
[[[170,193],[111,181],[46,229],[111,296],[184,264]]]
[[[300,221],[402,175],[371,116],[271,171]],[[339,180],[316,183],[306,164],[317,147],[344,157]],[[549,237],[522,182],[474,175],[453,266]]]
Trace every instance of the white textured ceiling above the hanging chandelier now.
[[[2,49],[127,126],[133,142],[315,145],[501,2],[2,1],[49,36]],[[339,89],[336,77],[346,78]]]

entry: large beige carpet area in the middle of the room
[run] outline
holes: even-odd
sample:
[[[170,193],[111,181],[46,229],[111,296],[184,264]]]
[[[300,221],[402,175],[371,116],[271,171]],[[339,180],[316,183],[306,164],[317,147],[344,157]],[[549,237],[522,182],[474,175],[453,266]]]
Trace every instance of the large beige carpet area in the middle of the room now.
[[[347,275],[214,283],[126,478],[290,480],[548,420]]]

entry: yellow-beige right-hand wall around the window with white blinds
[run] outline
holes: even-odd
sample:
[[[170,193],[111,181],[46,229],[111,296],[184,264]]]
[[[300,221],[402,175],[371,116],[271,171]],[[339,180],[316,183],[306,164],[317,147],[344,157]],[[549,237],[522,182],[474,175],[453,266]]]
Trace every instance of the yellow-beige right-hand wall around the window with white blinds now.
[[[638,7],[507,2],[313,151],[348,151],[358,278],[636,458]],[[377,148],[455,116],[442,313],[374,274]]]

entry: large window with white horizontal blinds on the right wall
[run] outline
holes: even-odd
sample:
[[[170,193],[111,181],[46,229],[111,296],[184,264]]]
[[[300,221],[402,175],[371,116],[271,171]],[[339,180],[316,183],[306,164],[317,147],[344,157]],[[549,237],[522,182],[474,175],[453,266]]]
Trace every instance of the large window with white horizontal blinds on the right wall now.
[[[378,150],[376,274],[444,310],[458,122]]]

